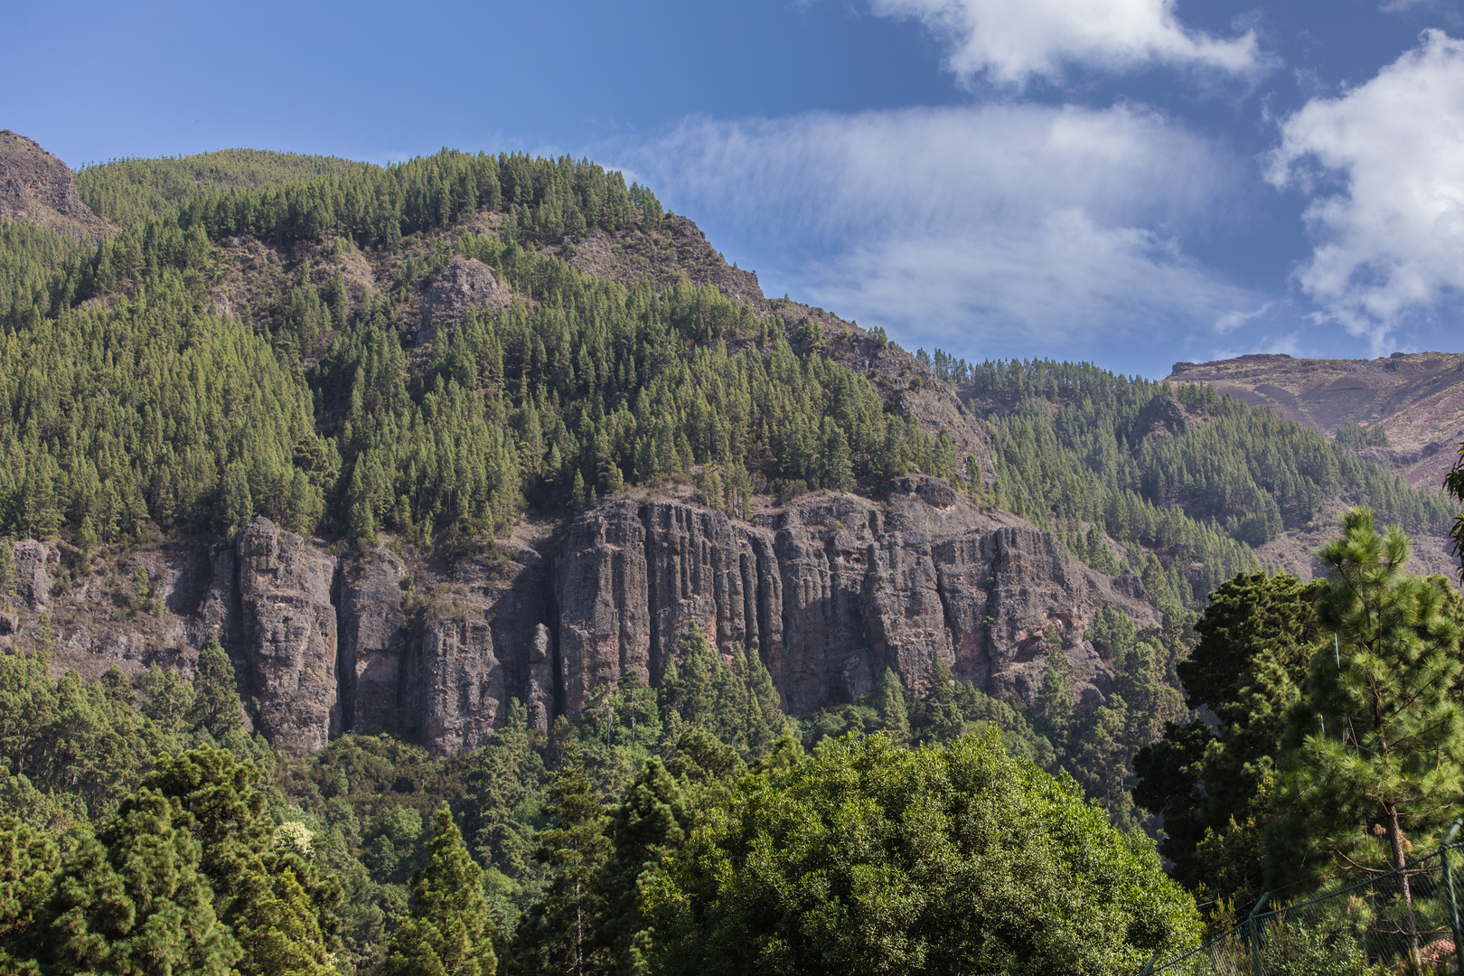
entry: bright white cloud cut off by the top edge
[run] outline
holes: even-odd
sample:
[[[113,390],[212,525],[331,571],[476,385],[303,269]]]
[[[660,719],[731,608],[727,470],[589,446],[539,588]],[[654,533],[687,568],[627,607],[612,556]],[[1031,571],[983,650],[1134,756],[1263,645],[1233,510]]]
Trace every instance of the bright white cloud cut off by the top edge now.
[[[1255,31],[1218,40],[1186,29],[1174,0],[873,0],[878,15],[915,18],[950,47],[962,79],[1004,85],[1060,80],[1067,66],[1123,72],[1151,64],[1255,76],[1269,67]]]

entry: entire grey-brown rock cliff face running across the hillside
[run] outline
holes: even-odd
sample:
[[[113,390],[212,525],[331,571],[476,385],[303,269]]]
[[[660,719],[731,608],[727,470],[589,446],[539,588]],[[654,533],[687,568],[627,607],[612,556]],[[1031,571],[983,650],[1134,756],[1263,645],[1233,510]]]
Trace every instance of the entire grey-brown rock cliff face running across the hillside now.
[[[1111,679],[1085,637],[1094,613],[1157,622],[1135,577],[1095,574],[1053,536],[927,477],[893,481],[883,502],[818,493],[754,522],[616,498],[537,543],[410,574],[388,549],[337,560],[256,518],[233,547],[119,560],[116,578],[142,562],[157,581],[161,604],[142,610],[114,598],[104,612],[114,584],[97,568],[76,582],[67,559],[78,553],[16,546],[6,628],[34,638],[40,613],[56,613],[56,666],[88,675],[189,670],[220,635],[252,721],[291,752],[384,726],[470,749],[514,698],[546,729],[597,685],[654,683],[692,623],[723,651],[757,653],[796,714],[854,699],[886,667],[921,688],[937,657],[993,695],[1029,698],[1056,629],[1091,708]],[[73,579],[63,596],[59,578]],[[0,642],[16,639],[6,628]]]

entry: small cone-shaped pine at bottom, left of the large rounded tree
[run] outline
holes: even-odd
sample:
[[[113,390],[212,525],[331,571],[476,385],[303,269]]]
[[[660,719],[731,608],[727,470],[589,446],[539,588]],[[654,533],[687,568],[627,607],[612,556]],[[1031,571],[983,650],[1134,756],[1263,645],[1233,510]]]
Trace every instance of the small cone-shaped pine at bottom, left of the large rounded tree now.
[[[493,932],[483,871],[447,803],[433,817],[430,857],[411,878],[411,916],[391,936],[382,976],[492,976]]]

